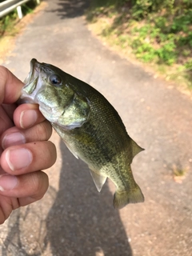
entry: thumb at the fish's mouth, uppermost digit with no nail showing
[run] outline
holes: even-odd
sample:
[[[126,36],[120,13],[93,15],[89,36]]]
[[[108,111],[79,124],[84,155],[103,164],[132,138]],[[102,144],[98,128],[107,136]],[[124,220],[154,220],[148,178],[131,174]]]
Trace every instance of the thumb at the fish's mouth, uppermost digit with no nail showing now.
[[[21,95],[23,82],[5,66],[0,66],[0,104],[14,103]]]

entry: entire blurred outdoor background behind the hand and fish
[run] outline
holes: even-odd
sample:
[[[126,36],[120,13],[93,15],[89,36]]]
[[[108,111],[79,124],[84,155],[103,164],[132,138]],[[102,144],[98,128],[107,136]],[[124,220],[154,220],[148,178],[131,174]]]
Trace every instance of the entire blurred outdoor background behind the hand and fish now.
[[[0,2],[1,14],[7,1]],[[46,170],[49,190],[0,226],[0,254],[190,256],[190,0],[21,6],[23,18],[15,7],[0,19],[0,64],[24,80],[37,58],[99,90],[146,149],[132,163],[146,201],[114,210],[112,182],[99,194],[86,164],[53,132],[58,160]]]

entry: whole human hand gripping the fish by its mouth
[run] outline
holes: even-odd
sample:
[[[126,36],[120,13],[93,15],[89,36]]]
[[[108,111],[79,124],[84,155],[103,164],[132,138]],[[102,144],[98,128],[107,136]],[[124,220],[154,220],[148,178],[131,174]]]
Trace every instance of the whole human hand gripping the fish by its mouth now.
[[[0,66],[0,224],[12,210],[43,197],[48,188],[47,169],[56,161],[50,122],[38,105],[14,102],[23,83]]]

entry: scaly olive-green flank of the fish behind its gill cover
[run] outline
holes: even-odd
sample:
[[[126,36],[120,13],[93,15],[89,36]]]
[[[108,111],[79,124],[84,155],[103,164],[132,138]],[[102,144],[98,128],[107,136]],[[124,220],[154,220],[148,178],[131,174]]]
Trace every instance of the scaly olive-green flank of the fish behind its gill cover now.
[[[74,89],[79,90],[79,88]],[[89,90],[89,93],[92,93],[92,91]],[[110,175],[110,178],[113,178],[114,168],[122,170],[122,166],[120,166],[122,161],[118,161],[118,158],[124,157],[126,160],[126,155],[123,154],[125,150],[131,154],[131,148],[128,148],[130,143],[126,143],[127,135],[124,132],[125,126],[122,121],[118,120],[117,122],[118,113],[113,109],[114,113],[111,114],[111,108],[107,109],[106,107],[106,104],[109,104],[106,99],[100,94],[96,98],[95,93],[98,92],[94,92],[94,97],[91,97],[90,94],[86,95],[91,102],[90,122],[86,122],[81,128],[66,131],[63,135],[61,131],[61,136],[65,142],[72,144],[76,151],[81,152],[79,158],[82,158],[85,162],[89,161],[90,169],[99,169],[101,174]],[[101,115],[101,113],[104,114]],[[97,126],[94,126],[94,119],[98,120]],[[122,126],[119,126],[119,121]],[[114,130],[110,129],[111,126],[114,126]],[[94,138],[92,134],[94,134]],[[102,170],[103,166],[105,166],[104,170]],[[117,174],[121,178],[121,182],[124,183],[121,172],[114,173],[114,176],[116,177]]]

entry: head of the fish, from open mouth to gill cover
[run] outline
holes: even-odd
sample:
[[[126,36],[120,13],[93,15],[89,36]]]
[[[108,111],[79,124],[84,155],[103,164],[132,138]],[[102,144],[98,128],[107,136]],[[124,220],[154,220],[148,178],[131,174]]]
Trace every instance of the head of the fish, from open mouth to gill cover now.
[[[68,74],[36,59],[30,61],[30,73],[22,88],[21,102],[36,103],[44,117],[66,129],[82,126],[89,118],[89,101],[76,94]]]

